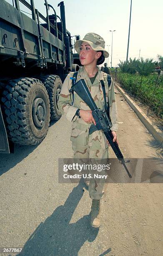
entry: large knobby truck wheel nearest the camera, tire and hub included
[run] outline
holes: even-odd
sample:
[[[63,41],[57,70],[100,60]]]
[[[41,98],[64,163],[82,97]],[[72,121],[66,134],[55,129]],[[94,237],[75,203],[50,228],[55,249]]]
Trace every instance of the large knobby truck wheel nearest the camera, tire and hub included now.
[[[20,145],[41,143],[50,123],[49,97],[43,83],[34,78],[9,81],[1,101],[9,138]]]

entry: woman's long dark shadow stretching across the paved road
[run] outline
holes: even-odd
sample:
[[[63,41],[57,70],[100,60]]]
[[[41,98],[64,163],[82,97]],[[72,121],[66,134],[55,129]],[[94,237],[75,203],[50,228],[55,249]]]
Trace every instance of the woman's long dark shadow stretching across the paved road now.
[[[73,212],[82,196],[83,182],[80,180],[78,186],[73,188],[65,204],[56,208],[44,223],[40,223],[25,243],[21,253],[17,255],[77,256],[85,241],[94,241],[98,229],[91,228],[90,215],[83,216],[76,223],[70,223]]]

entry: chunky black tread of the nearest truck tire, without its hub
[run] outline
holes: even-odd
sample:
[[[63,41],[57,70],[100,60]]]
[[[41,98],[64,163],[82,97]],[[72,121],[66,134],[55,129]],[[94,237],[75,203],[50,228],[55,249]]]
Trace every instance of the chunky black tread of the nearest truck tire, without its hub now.
[[[27,125],[28,115],[25,108],[27,103],[26,97],[30,88],[35,83],[42,84],[44,87],[44,84],[39,79],[35,78],[27,77],[11,80],[5,87],[2,95],[3,97],[1,98],[1,101],[3,102],[3,112],[5,113],[8,137],[14,143],[18,143],[20,145],[39,144],[47,134],[46,133],[42,139],[36,140],[30,133]]]

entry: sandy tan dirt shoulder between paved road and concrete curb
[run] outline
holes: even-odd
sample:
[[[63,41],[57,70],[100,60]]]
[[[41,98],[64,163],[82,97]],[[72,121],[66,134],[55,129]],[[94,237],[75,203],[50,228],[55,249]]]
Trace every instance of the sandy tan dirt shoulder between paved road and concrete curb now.
[[[120,122],[117,134],[124,157],[140,158],[139,161],[150,157],[163,159],[163,149],[118,90],[115,92]],[[110,156],[113,154],[110,150]],[[159,182],[163,182],[163,174]],[[108,207],[103,208],[103,218],[109,211],[105,225],[114,245],[107,255],[162,256],[163,183],[105,184],[105,190],[103,204],[108,202]]]

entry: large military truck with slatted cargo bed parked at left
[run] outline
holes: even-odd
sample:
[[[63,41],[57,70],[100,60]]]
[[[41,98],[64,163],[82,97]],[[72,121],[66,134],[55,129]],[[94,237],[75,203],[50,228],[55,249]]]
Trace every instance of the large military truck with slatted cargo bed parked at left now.
[[[45,18],[29,1],[13,0],[11,5],[0,0],[0,153],[10,153],[13,143],[43,141],[50,120],[61,117],[57,102],[62,83],[68,72],[79,69],[73,64],[64,3],[58,4],[59,17],[45,0]],[[20,11],[20,3],[32,18]]]

